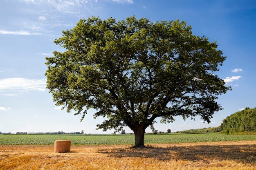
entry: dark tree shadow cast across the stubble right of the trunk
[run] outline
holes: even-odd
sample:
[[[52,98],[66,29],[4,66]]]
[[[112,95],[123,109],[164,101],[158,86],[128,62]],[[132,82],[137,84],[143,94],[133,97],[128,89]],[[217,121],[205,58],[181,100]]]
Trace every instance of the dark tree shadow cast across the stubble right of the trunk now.
[[[255,145],[198,145],[170,146],[168,148],[111,148],[99,150],[109,157],[153,158],[161,161],[187,160],[204,161],[227,160],[256,166]],[[209,162],[210,163],[210,162]]]

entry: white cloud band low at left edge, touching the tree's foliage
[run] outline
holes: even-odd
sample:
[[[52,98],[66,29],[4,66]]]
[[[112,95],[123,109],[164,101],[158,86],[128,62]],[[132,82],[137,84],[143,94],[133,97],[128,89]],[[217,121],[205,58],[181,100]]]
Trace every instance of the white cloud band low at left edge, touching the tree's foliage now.
[[[0,90],[45,91],[46,79],[7,78],[0,79]]]

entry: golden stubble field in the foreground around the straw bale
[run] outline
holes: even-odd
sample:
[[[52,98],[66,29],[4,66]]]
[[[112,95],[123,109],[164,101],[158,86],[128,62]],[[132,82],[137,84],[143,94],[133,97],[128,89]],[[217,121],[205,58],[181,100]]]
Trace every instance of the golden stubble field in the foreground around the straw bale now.
[[[130,146],[0,146],[0,170],[256,170],[256,141]],[[152,148],[153,147],[153,148]]]

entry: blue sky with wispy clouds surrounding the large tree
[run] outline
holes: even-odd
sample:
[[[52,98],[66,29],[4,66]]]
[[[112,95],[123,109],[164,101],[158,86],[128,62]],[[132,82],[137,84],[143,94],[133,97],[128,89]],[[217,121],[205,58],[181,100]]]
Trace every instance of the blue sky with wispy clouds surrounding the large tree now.
[[[95,130],[103,118],[85,120],[59,110],[46,86],[45,57],[65,49],[53,43],[62,30],[79,19],[99,16],[125,20],[135,15],[150,21],[184,20],[195,35],[217,41],[227,56],[217,73],[233,90],[220,95],[221,110],[210,124],[200,118],[155,129],[172,132],[217,127],[228,115],[256,107],[256,1],[255,0],[1,0],[0,1],[0,131],[112,133]],[[157,119],[159,122],[159,119]],[[126,128],[126,132],[131,132]],[[146,132],[151,132],[148,128]]]

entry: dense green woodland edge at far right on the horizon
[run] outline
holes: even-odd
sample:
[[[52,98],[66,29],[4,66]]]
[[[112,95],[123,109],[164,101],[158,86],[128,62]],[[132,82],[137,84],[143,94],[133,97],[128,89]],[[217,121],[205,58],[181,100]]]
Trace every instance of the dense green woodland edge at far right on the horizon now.
[[[256,132],[256,108],[245,108],[226,117],[219,128],[224,134]]]

